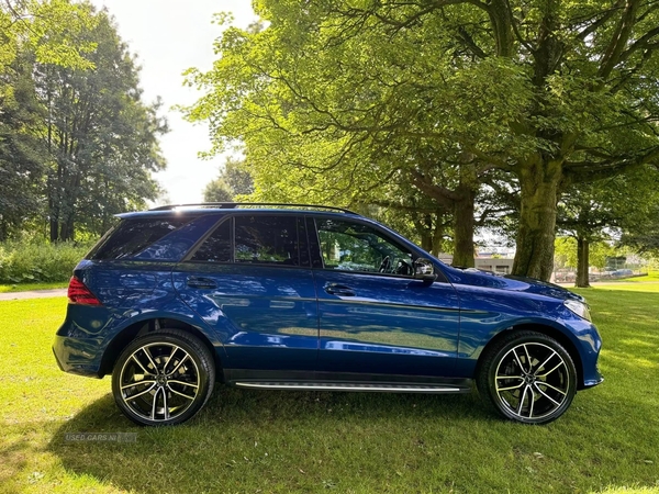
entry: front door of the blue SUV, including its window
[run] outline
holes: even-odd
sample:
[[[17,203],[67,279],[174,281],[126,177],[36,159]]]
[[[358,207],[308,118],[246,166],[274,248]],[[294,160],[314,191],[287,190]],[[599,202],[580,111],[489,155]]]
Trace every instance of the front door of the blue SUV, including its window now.
[[[372,224],[323,216],[314,223],[319,371],[451,377],[459,332],[453,285],[415,279],[413,250]]]

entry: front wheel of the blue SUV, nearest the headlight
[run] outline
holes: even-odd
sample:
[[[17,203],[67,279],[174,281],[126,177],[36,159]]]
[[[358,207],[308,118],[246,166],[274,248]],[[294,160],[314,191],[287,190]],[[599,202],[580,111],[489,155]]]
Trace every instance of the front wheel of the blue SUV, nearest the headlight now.
[[[477,386],[485,403],[504,417],[523,424],[548,424],[572,403],[577,370],[568,351],[554,338],[514,332],[483,356]]]

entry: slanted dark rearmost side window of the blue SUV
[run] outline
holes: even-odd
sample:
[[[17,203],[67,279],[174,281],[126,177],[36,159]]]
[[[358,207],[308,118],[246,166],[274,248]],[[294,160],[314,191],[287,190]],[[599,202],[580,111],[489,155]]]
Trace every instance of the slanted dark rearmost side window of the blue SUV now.
[[[123,259],[141,252],[190,218],[124,220],[87,256],[88,259]]]

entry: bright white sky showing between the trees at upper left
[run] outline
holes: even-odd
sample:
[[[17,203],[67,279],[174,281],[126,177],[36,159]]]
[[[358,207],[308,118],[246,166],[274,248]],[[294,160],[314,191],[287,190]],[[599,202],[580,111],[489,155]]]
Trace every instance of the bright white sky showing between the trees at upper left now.
[[[167,117],[169,133],[160,138],[167,169],[156,173],[167,191],[161,203],[201,201],[203,188],[217,177],[224,157],[200,159],[197,154],[211,147],[208,127],[191,124],[176,104],[191,104],[201,96],[183,87],[183,70],[208,70],[216,58],[213,41],[222,29],[212,24],[212,15],[232,12],[234,25],[244,27],[255,20],[249,0],[92,0],[114,16],[119,34],[142,66],[144,101],[163,99],[160,114]]]

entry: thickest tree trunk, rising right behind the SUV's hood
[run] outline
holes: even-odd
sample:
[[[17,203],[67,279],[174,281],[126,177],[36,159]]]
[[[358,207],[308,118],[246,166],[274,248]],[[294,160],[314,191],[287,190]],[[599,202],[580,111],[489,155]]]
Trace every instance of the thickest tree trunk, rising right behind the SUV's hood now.
[[[548,281],[554,270],[556,203],[562,161],[538,156],[518,170],[521,194],[513,274]]]

